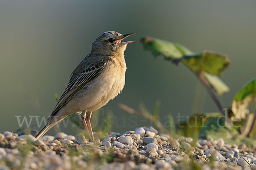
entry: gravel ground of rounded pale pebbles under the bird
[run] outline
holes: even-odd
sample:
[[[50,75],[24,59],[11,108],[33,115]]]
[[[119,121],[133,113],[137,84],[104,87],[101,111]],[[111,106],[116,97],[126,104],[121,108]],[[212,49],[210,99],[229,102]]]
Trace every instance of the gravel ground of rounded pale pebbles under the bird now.
[[[35,140],[6,131],[0,134],[0,170],[256,170],[255,149],[244,144],[157,134],[140,127],[88,142],[83,134]]]

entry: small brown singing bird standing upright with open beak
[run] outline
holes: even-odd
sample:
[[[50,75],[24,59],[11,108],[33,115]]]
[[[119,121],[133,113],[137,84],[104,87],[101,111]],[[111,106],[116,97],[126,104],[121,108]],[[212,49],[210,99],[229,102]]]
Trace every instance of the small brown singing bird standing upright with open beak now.
[[[36,139],[41,138],[68,115],[77,113],[81,115],[89,139],[94,141],[90,123],[92,112],[105,106],[122,92],[127,69],[124,52],[127,44],[137,42],[121,41],[131,35],[135,33],[122,35],[108,31],[93,41],[90,54],[73,70],[64,93]]]

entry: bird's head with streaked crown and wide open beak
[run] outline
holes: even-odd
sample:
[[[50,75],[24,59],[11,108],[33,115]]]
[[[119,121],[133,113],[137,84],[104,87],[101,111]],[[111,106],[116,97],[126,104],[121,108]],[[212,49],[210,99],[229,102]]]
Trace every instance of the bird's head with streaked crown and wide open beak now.
[[[136,41],[121,42],[123,39],[135,33],[122,35],[118,32],[104,32],[96,38],[91,45],[91,53],[100,55],[113,55],[115,53],[123,54],[128,43],[137,43]]]

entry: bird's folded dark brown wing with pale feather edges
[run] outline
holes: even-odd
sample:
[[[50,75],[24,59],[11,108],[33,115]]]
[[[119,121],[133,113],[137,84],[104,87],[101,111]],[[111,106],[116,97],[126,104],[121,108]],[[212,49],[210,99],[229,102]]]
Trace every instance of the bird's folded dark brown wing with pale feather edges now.
[[[61,107],[63,107],[65,104],[67,104],[67,102],[70,101],[70,99],[73,98],[73,96],[76,95],[76,93],[80,89],[82,89],[88,82],[95,79],[105,66],[105,59],[101,59],[90,64],[85,69],[82,69],[78,74],[73,75],[70,78],[69,83],[67,84],[67,88],[65,89],[57,105],[53,109],[51,116],[54,116],[58,112],[58,110],[61,109]]]

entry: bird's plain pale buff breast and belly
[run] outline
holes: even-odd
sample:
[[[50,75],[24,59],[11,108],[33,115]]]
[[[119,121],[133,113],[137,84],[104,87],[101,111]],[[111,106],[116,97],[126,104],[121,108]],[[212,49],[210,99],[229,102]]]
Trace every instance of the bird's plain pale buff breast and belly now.
[[[106,68],[98,78],[82,89],[79,99],[81,110],[97,110],[115,98],[125,85],[125,72]]]

